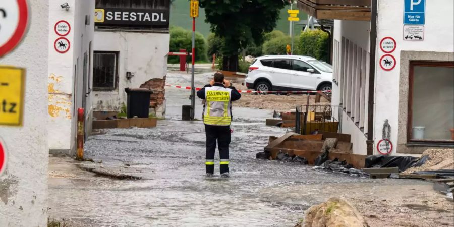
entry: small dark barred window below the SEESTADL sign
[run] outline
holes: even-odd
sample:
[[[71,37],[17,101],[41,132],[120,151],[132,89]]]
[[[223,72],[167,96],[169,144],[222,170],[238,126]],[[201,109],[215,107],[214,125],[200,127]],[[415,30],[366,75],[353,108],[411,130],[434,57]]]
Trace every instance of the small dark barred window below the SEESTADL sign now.
[[[118,77],[118,52],[95,51],[93,55],[93,89],[115,90]]]

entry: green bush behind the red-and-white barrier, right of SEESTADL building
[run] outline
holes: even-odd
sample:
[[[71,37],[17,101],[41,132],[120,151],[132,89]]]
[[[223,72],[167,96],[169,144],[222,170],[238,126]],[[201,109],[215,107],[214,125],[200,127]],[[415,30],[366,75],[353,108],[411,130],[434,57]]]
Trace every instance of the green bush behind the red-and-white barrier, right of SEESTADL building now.
[[[205,38],[202,34],[196,32],[195,36],[195,60],[207,61],[206,51],[207,45]],[[170,28],[170,46],[171,52],[179,52],[180,49],[191,51],[192,49],[192,31],[186,30],[182,27],[172,26]],[[168,63],[178,63],[180,59],[178,56],[168,56]]]

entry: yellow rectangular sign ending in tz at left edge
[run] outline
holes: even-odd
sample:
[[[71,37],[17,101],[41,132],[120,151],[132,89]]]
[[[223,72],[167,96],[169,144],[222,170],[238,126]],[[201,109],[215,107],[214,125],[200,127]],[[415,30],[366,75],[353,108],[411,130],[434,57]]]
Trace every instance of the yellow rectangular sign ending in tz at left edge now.
[[[25,69],[0,66],[0,125],[21,126]]]

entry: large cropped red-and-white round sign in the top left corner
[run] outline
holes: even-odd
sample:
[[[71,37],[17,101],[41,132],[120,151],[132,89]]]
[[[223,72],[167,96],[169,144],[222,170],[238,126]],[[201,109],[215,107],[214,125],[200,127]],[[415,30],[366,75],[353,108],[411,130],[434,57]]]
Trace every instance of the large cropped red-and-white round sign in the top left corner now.
[[[29,21],[27,0],[0,1],[0,57],[24,38]]]

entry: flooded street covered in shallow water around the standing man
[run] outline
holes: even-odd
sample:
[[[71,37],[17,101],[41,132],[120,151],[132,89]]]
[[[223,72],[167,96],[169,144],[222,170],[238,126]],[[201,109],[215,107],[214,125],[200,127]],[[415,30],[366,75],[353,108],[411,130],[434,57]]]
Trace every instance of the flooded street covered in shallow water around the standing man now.
[[[196,87],[203,86],[209,76],[209,72],[197,74]],[[189,78],[171,72],[167,83],[190,86]],[[86,142],[87,158],[100,159],[105,166],[141,168],[143,180],[115,180],[80,169],[71,176],[51,177],[49,214],[82,226],[294,226],[308,207],[332,196],[361,201],[354,203],[363,204],[358,209],[367,214],[376,206],[371,201],[382,201],[387,194],[394,194],[387,199],[396,204],[413,200],[419,204],[417,200],[427,195],[418,193],[433,191],[433,185],[424,181],[369,180],[318,172],[296,163],[257,160],[255,155],[268,137],[286,130],[265,126],[272,111],[235,104],[231,178],[219,178],[216,151],[216,176],[207,179],[203,123],[180,121],[181,105],[190,104],[189,93],[166,88],[167,120],[158,121],[156,128],[103,130]],[[201,100],[196,104],[196,118],[200,118]],[[443,198],[435,191],[430,196]],[[403,220],[411,218],[411,208],[399,209],[408,211]],[[386,219],[387,212],[399,210],[376,215]],[[444,221],[452,214],[442,212],[438,217]],[[440,223],[426,221],[418,224]]]

